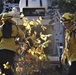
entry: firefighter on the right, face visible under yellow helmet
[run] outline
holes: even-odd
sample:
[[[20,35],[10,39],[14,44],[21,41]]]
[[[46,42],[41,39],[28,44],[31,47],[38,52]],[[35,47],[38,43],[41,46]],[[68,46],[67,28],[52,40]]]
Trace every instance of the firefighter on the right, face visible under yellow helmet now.
[[[65,64],[66,58],[70,65],[68,75],[76,75],[76,15],[64,13],[60,22],[65,27],[65,47],[62,54],[62,64]]]

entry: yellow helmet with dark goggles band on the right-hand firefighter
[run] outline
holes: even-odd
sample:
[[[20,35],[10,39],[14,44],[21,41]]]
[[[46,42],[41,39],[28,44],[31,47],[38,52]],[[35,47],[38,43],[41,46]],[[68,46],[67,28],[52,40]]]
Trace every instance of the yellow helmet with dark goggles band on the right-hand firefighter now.
[[[73,22],[73,19],[74,19],[74,14],[64,13],[60,19],[60,22],[62,23]]]

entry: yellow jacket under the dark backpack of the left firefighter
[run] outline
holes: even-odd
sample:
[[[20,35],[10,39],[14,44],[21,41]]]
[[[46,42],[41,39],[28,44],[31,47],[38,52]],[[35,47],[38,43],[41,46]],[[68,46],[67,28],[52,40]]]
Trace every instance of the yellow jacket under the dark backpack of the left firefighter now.
[[[0,26],[0,38],[3,36],[2,35],[2,27],[3,25]],[[20,40],[23,40],[25,38],[24,32],[15,25],[12,25],[12,36],[19,36]],[[1,38],[0,41],[0,50],[2,49],[8,49],[11,51],[16,52],[17,50],[17,45],[15,43],[15,38]]]

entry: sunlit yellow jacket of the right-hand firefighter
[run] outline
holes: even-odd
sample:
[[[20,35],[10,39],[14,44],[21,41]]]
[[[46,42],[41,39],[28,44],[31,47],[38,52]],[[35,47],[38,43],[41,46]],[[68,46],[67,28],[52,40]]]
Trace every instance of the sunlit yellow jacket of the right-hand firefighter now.
[[[63,56],[68,58],[68,62],[76,61],[76,34],[72,32],[71,36],[69,35],[74,29],[75,27],[72,26],[65,31],[65,48]]]

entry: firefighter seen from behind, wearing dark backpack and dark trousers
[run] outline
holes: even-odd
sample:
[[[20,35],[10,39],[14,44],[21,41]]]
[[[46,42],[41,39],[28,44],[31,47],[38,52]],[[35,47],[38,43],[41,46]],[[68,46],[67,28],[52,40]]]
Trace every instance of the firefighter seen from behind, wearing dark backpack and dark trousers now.
[[[2,14],[1,20],[3,24],[0,26],[0,69],[5,75],[14,75],[14,57],[17,50],[15,38],[19,37],[20,40],[24,40],[25,34],[15,25],[16,23],[12,21],[12,16],[10,14]],[[11,36],[7,36],[10,32]],[[10,67],[5,69],[3,64],[7,62]]]

